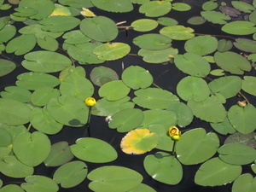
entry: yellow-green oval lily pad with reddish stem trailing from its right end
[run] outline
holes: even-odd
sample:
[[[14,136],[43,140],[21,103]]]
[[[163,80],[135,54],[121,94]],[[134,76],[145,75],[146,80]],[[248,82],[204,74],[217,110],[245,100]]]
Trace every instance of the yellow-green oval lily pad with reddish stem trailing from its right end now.
[[[160,34],[175,40],[187,40],[194,38],[194,29],[185,26],[165,26],[160,29]]]

